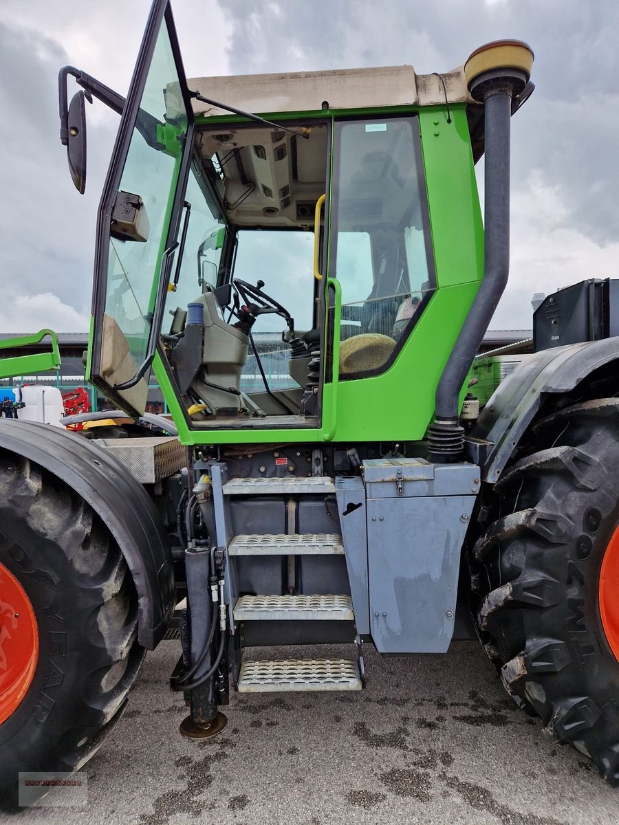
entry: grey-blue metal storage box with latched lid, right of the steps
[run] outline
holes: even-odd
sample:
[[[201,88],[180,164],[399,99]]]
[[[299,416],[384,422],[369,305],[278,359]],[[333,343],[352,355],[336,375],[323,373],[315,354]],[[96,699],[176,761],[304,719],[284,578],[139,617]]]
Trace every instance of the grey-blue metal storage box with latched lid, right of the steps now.
[[[371,635],[380,653],[445,653],[475,464],[365,461]]]

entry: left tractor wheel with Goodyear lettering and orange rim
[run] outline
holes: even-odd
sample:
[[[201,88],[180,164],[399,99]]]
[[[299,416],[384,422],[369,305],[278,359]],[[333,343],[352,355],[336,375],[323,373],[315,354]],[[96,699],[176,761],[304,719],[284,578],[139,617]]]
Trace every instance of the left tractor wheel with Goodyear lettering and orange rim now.
[[[77,770],[120,718],[145,653],[137,607],[92,508],[37,464],[0,453],[3,807],[17,805],[20,771]]]

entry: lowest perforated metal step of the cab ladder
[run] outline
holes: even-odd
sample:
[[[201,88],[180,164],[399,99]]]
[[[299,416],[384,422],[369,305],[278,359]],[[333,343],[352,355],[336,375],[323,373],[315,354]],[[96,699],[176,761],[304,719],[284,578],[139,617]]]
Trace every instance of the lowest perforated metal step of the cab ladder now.
[[[287,659],[243,662],[240,693],[276,691],[361,691],[357,662],[352,659]]]

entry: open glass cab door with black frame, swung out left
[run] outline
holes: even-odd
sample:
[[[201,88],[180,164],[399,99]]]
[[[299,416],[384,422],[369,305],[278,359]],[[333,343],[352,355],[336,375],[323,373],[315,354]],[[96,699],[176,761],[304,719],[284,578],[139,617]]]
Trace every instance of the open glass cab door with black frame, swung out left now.
[[[97,215],[89,379],[144,413],[177,250],[193,115],[168,0],[155,0]]]

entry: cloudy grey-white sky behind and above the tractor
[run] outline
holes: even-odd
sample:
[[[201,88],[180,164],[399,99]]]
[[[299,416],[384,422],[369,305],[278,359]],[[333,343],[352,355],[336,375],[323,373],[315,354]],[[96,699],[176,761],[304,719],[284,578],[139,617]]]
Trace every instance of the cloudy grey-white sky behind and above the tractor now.
[[[513,120],[512,267],[493,328],[532,293],[619,276],[617,0],[177,0],[187,77],[413,64],[447,71],[503,37],[536,53]],[[148,0],[2,0],[0,331],[87,329],[97,201],[118,118],[88,106],[87,194],[59,143],[58,69],[125,95]]]

